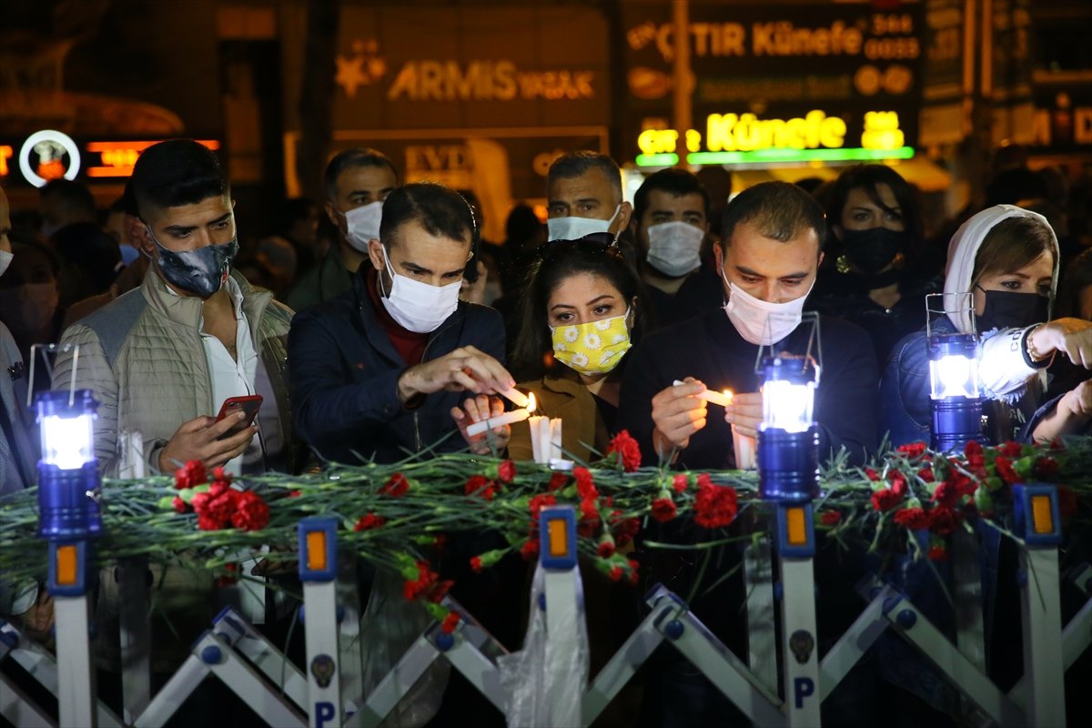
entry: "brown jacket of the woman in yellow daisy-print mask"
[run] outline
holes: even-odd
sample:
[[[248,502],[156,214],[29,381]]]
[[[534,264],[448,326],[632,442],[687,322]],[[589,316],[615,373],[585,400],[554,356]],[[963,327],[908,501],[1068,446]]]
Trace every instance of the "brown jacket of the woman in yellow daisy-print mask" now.
[[[600,417],[594,395],[575,374],[547,374],[533,382],[517,384],[515,389],[534,393],[535,415],[561,418],[561,450],[565,457],[586,463],[592,457],[591,447],[602,453],[610,443],[610,433]],[[512,426],[508,454],[513,461],[533,460],[531,427],[526,421]]]

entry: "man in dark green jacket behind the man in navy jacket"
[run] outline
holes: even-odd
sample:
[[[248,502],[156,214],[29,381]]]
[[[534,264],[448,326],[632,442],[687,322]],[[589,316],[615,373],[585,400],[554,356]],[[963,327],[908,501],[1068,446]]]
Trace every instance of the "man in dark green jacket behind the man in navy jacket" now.
[[[337,228],[337,244],[288,290],[294,310],[329,301],[353,288],[353,274],[368,258],[368,241],[379,238],[383,200],[397,187],[394,164],[366,147],[339,152],[325,170],[327,218]]]

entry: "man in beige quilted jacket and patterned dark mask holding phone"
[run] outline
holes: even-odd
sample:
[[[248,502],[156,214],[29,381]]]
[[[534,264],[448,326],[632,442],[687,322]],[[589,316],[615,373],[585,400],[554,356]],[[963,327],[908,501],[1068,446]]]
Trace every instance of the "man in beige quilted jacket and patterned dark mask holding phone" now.
[[[232,263],[238,252],[234,202],[216,155],[198,142],[150,146],[129,190],[134,243],[152,263],[140,288],[70,326],[55,386],[91,389],[99,401],[95,452],[104,473],[121,467],[126,431],[143,438],[146,469],[173,473],[191,460],[228,473],[293,472],[285,341],[292,312],[253,289]],[[253,423],[232,397],[261,395]],[[258,437],[256,437],[258,435]]]

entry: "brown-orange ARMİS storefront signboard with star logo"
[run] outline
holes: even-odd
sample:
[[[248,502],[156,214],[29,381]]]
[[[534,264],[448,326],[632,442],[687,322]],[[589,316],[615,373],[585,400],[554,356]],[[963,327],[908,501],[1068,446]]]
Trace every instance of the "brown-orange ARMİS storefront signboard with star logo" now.
[[[607,123],[607,26],[579,7],[346,4],[336,129]]]

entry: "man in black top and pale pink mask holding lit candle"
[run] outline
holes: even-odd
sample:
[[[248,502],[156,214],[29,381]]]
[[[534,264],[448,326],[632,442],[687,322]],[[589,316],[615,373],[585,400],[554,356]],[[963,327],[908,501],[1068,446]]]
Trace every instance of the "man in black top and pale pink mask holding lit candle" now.
[[[687,468],[735,466],[732,425],[755,437],[762,417],[759,344],[805,353],[809,332],[798,325],[800,309],[822,260],[823,225],[819,205],[785,182],[758,184],[728,203],[724,243],[714,246],[728,305],[653,334],[630,353],[620,417],[645,464],[674,456]],[[876,357],[858,327],[820,317],[819,329],[821,452],[844,446],[860,462],[876,446]],[[686,383],[673,386],[675,380]],[[733,406],[709,410],[697,396],[705,387],[736,392]]]

